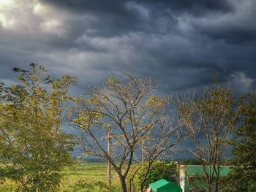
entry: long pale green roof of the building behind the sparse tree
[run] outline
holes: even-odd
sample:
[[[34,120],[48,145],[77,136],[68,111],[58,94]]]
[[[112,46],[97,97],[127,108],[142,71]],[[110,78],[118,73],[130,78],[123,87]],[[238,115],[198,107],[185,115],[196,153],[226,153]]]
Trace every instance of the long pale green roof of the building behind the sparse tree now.
[[[227,174],[231,171],[232,166],[220,166],[219,175],[227,176]],[[206,171],[208,173],[214,172],[213,166],[206,166]],[[187,165],[186,166],[186,174],[188,176],[203,176],[203,166],[201,165]]]

